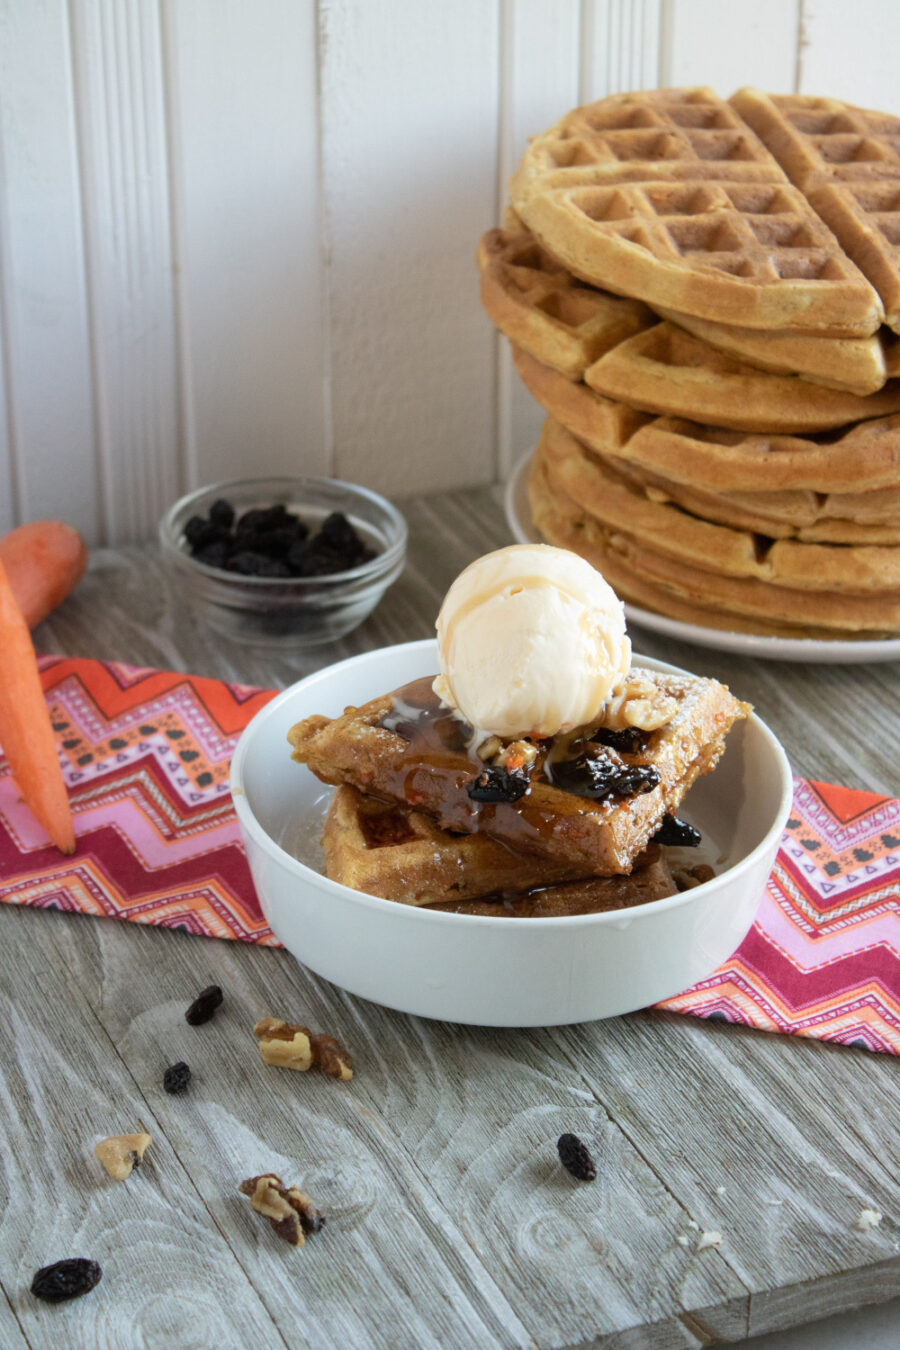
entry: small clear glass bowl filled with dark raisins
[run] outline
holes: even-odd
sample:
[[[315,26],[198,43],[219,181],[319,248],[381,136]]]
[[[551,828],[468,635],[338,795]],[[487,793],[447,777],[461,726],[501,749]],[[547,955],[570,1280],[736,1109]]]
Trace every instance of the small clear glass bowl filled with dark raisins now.
[[[194,612],[236,643],[344,637],[403,570],[406,521],[336,478],[246,478],[189,493],[159,522]]]

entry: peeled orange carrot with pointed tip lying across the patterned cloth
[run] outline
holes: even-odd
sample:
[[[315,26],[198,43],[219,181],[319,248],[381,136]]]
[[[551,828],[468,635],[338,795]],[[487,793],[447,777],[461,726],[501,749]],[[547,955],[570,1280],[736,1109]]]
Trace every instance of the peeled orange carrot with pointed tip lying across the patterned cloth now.
[[[40,687],[31,633],[0,563],[0,747],[19,791],[63,853],[74,853],[72,809]]]

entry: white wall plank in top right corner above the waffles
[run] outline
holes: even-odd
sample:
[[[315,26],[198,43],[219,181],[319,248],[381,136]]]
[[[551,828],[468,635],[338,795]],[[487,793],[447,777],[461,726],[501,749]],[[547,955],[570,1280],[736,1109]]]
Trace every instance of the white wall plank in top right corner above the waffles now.
[[[800,89],[900,112],[896,0],[803,0]]]

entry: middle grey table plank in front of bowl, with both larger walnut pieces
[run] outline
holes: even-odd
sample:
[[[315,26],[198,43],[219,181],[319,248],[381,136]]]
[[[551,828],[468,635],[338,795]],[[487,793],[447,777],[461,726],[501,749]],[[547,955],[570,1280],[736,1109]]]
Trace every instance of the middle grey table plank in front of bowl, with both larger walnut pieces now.
[[[677,1242],[690,1212],[545,1038],[390,1013],[267,949],[158,932],[125,948],[117,926],[84,927],[73,945],[53,925],[70,977],[100,988],[97,1015],[223,1231],[236,1218],[223,1183],[242,1170],[285,1169],[331,1215],[328,1241],[304,1251],[320,1257],[304,1261],[302,1291],[282,1285],[264,1241],[236,1247],[285,1334],[301,1318],[324,1346],[551,1346],[710,1304],[743,1318],[746,1287],[715,1251],[695,1261]],[[215,965],[198,964],[206,953]],[[213,969],[227,1010],[188,1027],[184,1007]],[[266,1069],[251,1035],[264,1014],[337,1035],[356,1057],[352,1083]],[[194,1068],[184,1102],[154,1081],[161,1053]],[[595,1141],[592,1185],[559,1164],[567,1129]],[[336,1266],[354,1297],[335,1300]],[[425,1273],[428,1299],[413,1292]],[[399,1315],[406,1288],[417,1318],[403,1312],[390,1338],[367,1327],[364,1310]]]

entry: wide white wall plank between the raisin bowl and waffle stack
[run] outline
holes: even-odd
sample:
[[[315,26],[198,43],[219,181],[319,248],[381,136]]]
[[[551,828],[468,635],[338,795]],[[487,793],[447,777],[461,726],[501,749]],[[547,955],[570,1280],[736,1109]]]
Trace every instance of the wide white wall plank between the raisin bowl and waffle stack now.
[[[335,463],[387,493],[495,475],[474,254],[497,200],[497,0],[322,0]]]

